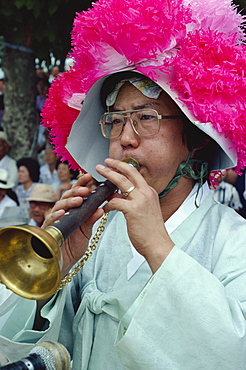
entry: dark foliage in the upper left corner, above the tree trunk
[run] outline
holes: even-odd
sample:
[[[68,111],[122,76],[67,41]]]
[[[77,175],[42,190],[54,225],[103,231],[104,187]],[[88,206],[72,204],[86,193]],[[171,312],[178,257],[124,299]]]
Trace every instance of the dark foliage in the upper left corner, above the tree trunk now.
[[[90,0],[0,0],[0,36],[32,49],[40,60],[49,61],[50,52],[64,59],[75,14],[90,5]]]

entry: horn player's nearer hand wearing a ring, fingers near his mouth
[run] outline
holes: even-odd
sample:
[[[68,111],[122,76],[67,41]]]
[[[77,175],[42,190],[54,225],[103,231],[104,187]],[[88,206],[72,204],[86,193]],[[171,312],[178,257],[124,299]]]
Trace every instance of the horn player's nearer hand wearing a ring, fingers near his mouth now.
[[[146,258],[154,273],[174,246],[164,225],[158,194],[129,164],[109,158],[105,164],[110,168],[98,165],[97,171],[123,194],[114,195],[104,210],[123,212],[133,246]],[[125,196],[128,190],[130,193]]]

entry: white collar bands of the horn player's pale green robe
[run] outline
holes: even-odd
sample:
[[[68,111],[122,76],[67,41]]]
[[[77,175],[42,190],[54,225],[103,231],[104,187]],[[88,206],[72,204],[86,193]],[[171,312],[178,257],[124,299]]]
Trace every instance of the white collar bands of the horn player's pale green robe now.
[[[208,187],[208,183],[205,182],[201,189],[199,190],[199,194],[196,198],[198,189],[198,184],[196,183],[191,190],[190,194],[184,200],[184,202],[180,205],[176,212],[165,222],[165,227],[167,229],[168,234],[170,235],[190,214],[196,210],[196,204],[201,205],[205,198],[208,196],[210,190]],[[139,269],[139,267],[145,261],[145,258],[139,254],[136,249],[131,244],[132,249],[132,259],[127,265],[127,278],[128,280],[135,274],[135,272]]]

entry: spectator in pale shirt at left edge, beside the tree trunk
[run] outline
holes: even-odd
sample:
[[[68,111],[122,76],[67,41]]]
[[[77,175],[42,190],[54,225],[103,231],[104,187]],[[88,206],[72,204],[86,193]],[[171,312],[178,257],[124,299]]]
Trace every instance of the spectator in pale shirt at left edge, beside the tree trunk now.
[[[17,179],[17,165],[16,160],[8,155],[10,144],[7,135],[4,131],[0,131],[0,168],[3,168],[8,172],[8,179],[13,182],[16,186],[18,183]]]

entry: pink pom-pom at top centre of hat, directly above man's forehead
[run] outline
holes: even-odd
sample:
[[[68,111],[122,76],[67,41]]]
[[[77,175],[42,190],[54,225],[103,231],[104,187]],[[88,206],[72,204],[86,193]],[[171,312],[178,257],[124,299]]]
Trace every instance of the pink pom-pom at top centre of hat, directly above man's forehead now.
[[[131,0],[102,0],[75,19],[71,57],[88,83],[127,65],[158,64],[160,53],[164,58],[186,36],[191,21],[180,0],[137,0],[134,6]]]

